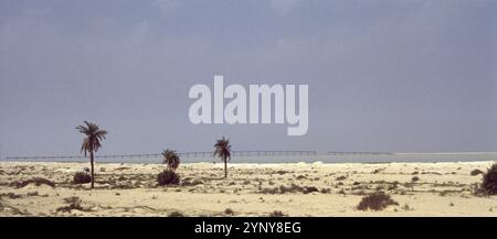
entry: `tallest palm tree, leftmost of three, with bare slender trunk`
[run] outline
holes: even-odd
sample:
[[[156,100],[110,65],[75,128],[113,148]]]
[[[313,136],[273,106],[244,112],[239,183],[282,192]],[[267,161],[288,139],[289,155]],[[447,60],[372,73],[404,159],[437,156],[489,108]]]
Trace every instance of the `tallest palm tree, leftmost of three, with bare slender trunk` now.
[[[91,123],[88,121],[84,121],[85,124],[80,124],[76,127],[76,130],[78,130],[81,133],[84,133],[86,138],[83,140],[83,144],[81,145],[81,152],[89,153],[89,164],[92,169],[92,188],[94,188],[95,184],[95,174],[94,174],[94,152],[97,152],[98,149],[101,149],[102,144],[101,141],[105,139],[105,134],[107,134],[107,131],[101,130],[97,124]]]

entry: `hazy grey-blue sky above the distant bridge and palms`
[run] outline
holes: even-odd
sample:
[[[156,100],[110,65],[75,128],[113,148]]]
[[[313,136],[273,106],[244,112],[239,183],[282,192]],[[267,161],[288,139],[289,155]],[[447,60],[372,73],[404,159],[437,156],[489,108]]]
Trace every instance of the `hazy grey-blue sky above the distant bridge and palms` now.
[[[189,121],[194,84],[308,84],[309,130]],[[0,156],[497,151],[497,1],[0,0]]]

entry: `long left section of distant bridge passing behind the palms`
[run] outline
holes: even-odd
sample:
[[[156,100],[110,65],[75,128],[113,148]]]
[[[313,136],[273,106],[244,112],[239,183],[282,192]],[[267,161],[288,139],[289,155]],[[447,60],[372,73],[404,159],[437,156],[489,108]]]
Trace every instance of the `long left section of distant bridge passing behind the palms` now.
[[[232,151],[232,156],[303,156],[316,155],[316,151]],[[180,157],[213,157],[213,152],[180,152]],[[65,156],[65,155],[50,155],[50,156],[8,156],[7,161],[57,161],[57,160],[85,160],[87,156]],[[139,154],[110,154],[110,155],[95,155],[95,159],[162,159],[161,153],[139,153]]]

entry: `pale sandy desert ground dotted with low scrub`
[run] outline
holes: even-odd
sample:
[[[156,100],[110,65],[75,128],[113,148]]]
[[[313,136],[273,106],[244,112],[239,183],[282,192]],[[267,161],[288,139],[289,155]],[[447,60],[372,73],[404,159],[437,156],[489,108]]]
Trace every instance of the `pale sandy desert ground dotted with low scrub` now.
[[[497,197],[474,195],[482,174],[470,175],[491,164],[229,164],[223,178],[221,163],[193,163],[177,170],[180,185],[157,186],[163,165],[97,163],[96,188],[89,189],[72,183],[88,163],[2,162],[0,216],[497,216]],[[34,177],[55,186],[15,186]],[[358,210],[361,198],[377,191],[399,205]],[[71,197],[81,199],[81,208],[57,210]]]

